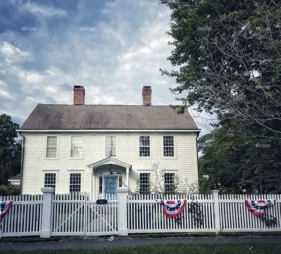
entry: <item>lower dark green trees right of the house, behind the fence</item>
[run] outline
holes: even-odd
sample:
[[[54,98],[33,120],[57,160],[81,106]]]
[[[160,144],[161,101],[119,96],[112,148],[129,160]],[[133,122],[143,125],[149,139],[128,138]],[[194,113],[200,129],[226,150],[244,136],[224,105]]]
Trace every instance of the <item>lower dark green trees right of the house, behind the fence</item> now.
[[[200,190],[222,193],[281,193],[280,140],[249,140],[210,133],[198,139]]]

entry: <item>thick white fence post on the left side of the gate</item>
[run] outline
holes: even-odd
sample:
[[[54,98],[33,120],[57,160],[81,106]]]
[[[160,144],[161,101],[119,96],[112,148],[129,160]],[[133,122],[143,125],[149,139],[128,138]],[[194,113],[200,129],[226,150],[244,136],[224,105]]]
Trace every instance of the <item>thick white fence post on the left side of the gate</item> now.
[[[40,230],[41,238],[51,237],[51,211],[52,211],[52,196],[55,189],[52,187],[41,188],[43,192],[42,206],[42,225]]]

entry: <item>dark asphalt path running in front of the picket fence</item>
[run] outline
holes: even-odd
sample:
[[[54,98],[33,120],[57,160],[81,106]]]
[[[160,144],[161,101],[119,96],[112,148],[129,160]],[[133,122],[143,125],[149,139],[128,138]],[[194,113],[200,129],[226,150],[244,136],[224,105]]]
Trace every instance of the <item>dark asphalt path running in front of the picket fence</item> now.
[[[219,238],[164,238],[164,239],[115,239],[112,242],[100,239],[73,238],[67,241],[44,242],[44,243],[2,243],[1,250],[33,250],[33,249],[65,249],[84,247],[110,247],[119,245],[139,245],[148,243],[247,243],[247,242],[280,242],[281,236],[271,237],[219,237]]]

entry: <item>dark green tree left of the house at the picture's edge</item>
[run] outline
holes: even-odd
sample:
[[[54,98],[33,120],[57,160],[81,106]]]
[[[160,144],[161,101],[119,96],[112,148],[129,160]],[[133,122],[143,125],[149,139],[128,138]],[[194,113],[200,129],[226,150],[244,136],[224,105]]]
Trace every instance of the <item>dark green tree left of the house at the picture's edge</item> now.
[[[19,125],[10,116],[0,115],[0,185],[20,173],[22,146],[21,140],[16,140],[17,128]]]

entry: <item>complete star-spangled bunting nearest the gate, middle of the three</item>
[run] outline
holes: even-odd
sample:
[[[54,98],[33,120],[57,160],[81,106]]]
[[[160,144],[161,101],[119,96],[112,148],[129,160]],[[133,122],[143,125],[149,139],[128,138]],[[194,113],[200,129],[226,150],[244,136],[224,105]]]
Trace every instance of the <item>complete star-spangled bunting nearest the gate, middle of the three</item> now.
[[[184,210],[184,207],[186,205],[186,199],[180,199],[180,200],[155,199],[155,201],[163,205],[163,211],[167,218],[177,217]]]

